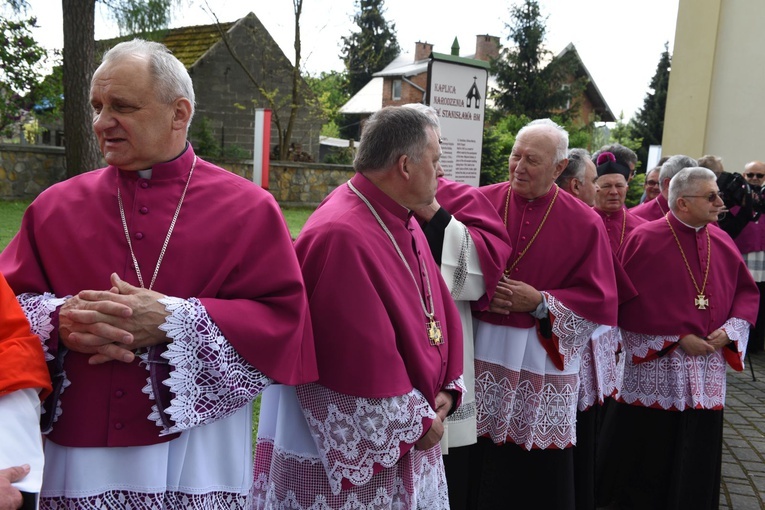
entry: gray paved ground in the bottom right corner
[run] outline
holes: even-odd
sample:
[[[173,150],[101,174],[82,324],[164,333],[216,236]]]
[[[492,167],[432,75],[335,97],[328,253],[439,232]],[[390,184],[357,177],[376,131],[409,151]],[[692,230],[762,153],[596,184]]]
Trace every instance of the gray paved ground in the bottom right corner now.
[[[765,353],[744,372],[728,369],[720,508],[765,510]]]

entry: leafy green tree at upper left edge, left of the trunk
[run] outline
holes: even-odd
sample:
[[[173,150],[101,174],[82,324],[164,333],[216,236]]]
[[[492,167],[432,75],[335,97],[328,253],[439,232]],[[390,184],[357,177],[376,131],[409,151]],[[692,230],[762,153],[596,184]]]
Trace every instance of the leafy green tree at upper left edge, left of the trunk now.
[[[34,105],[32,91],[42,80],[40,67],[47,52],[32,37],[35,18],[14,21],[0,18],[0,134]]]

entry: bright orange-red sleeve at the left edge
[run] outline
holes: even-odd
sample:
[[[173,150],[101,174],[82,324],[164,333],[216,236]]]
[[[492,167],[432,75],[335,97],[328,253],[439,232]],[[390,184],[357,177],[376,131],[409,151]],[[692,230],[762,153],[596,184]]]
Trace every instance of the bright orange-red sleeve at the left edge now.
[[[25,388],[42,388],[44,399],[51,392],[50,375],[40,339],[0,275],[0,396]]]

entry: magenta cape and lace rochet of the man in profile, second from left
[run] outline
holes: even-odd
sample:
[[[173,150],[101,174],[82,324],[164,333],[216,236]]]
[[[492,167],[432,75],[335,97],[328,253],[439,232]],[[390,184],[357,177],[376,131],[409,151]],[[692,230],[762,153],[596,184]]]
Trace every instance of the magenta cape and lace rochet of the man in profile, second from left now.
[[[257,501],[448,508],[440,447],[413,446],[435,418],[436,395],[461,393],[462,328],[422,229],[356,174],[313,213],[295,249],[319,380],[264,393],[261,413],[277,418],[258,430]],[[440,323],[440,342],[423,307]]]

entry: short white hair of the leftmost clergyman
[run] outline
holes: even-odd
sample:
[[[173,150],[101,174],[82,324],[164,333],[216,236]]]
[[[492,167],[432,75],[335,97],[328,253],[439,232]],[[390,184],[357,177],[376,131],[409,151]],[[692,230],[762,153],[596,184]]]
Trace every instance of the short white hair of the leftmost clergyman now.
[[[105,64],[131,55],[145,57],[148,60],[149,72],[155,80],[157,98],[160,101],[171,104],[176,99],[186,98],[191,103],[191,117],[194,116],[196,103],[191,76],[181,61],[173,56],[164,44],[143,39],[121,42],[104,53],[99,69]],[[189,117],[187,129],[191,125],[191,117]]]

